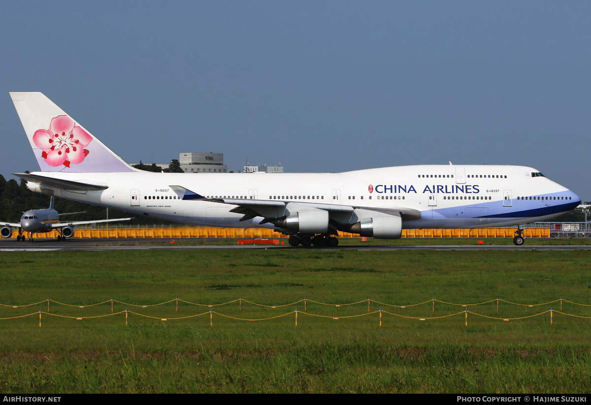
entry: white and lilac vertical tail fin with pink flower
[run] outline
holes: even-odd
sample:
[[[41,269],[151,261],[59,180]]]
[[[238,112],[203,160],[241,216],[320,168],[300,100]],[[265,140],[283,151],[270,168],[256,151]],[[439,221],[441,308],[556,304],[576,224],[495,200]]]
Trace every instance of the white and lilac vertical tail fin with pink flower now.
[[[43,93],[10,96],[41,171],[132,172],[126,164]]]

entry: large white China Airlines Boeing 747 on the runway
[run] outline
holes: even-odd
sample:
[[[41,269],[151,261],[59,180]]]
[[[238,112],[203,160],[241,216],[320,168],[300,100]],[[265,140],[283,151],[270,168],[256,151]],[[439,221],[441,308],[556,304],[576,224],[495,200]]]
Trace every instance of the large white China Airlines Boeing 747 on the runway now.
[[[177,174],[126,164],[41,93],[10,93],[41,171],[32,191],[213,227],[267,227],[291,246],[337,246],[337,231],[397,239],[406,228],[518,226],[580,204],[526,166],[416,165],[343,173]],[[139,137],[139,135],[138,135]],[[138,138],[138,142],[142,140]]]

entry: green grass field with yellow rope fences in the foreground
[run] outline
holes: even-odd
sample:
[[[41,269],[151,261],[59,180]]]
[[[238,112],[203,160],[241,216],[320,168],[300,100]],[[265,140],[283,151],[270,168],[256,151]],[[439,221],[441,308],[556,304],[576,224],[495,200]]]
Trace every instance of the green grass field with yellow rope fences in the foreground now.
[[[0,384],[7,393],[585,393],[591,319],[555,312],[550,325],[546,311],[559,302],[527,305],[591,305],[590,264],[589,252],[537,250],[0,252],[0,303],[54,301],[41,328],[46,301],[0,307],[0,318],[34,313],[0,320]],[[141,308],[177,296],[205,306]],[[497,296],[524,305],[502,301],[497,312]],[[129,325],[124,313],[57,316],[109,315],[110,301],[86,305],[111,298],[140,305],[115,303],[134,312]],[[307,313],[303,302],[206,306],[238,298],[309,301]],[[380,327],[368,298],[371,312],[400,316],[383,313]],[[591,316],[591,306],[564,301],[563,312]],[[343,318],[353,315],[362,316]]]

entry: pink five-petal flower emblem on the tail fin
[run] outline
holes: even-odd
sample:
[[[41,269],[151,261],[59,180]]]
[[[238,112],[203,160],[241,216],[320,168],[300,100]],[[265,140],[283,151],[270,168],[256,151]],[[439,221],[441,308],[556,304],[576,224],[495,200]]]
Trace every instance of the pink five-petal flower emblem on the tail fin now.
[[[72,118],[59,115],[51,120],[49,130],[38,129],[33,135],[33,142],[43,149],[41,157],[50,166],[81,163],[89,151],[86,146],[92,141],[92,136],[76,126]]]

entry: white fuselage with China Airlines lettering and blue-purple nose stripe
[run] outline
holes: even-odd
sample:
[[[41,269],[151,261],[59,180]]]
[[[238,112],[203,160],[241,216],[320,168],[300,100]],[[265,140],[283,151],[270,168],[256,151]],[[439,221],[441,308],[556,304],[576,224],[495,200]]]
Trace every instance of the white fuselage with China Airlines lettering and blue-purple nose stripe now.
[[[353,207],[407,207],[421,219],[404,228],[508,226],[547,220],[577,207],[580,198],[525,166],[416,165],[343,173],[183,174],[153,172],[37,172],[108,186],[101,191],[41,188],[33,191],[164,220],[215,227],[269,227],[261,217],[239,222],[236,205],[177,198],[180,185],[206,198],[281,200]]]

